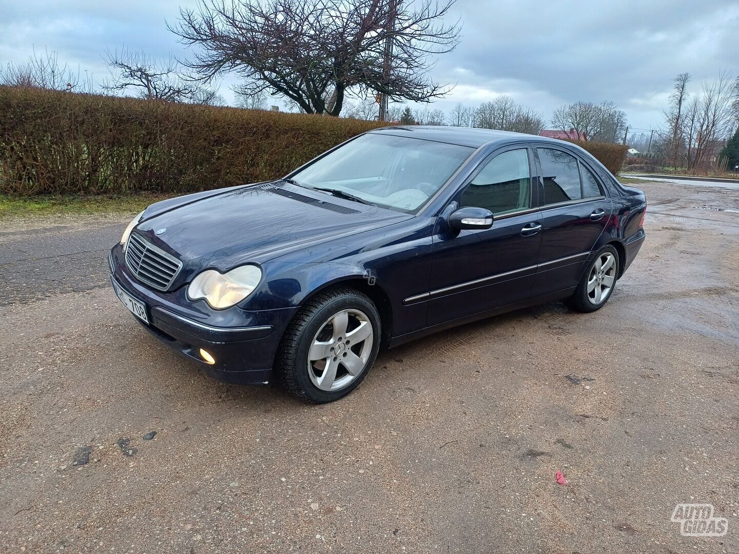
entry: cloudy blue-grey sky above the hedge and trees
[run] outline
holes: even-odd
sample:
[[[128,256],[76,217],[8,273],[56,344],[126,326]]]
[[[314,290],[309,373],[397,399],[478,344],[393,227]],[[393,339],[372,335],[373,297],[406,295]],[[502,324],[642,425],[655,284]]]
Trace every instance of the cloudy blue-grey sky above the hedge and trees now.
[[[0,0],[0,63],[24,62],[44,47],[94,81],[108,75],[106,48],[126,44],[153,55],[186,53],[166,21],[197,0]],[[739,73],[737,0],[457,0],[461,42],[432,72],[454,90],[432,108],[477,106],[498,95],[548,120],[576,100],[613,100],[630,126],[662,122],[672,78],[694,88],[721,69]],[[233,95],[226,78],[221,92]]]

